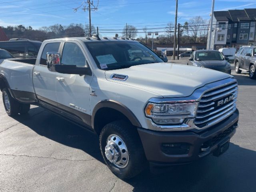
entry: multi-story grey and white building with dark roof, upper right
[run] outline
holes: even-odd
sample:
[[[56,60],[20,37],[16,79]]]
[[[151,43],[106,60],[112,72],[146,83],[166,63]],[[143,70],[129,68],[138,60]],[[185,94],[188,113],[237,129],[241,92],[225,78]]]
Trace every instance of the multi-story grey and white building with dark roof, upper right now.
[[[210,49],[256,44],[256,9],[214,11],[212,23]]]

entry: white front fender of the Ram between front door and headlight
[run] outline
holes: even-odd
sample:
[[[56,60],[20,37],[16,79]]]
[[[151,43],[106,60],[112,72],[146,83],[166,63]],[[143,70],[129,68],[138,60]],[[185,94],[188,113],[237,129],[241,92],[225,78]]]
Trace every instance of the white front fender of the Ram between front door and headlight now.
[[[106,80],[103,70],[95,70],[95,76],[90,86],[90,108],[91,113],[98,102],[112,100],[128,108],[138,119],[143,128],[148,128],[144,108],[150,98],[162,96],[152,92],[121,84],[118,80],[110,82]]]

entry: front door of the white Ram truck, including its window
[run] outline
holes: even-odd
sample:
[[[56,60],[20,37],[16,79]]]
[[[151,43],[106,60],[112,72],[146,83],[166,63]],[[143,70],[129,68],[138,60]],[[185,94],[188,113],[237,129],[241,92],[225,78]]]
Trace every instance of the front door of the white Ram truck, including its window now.
[[[84,67],[88,58],[83,47],[76,41],[65,41],[62,46],[61,64]],[[56,72],[55,86],[58,107],[72,115],[77,121],[90,122],[90,83],[92,76],[62,74]]]

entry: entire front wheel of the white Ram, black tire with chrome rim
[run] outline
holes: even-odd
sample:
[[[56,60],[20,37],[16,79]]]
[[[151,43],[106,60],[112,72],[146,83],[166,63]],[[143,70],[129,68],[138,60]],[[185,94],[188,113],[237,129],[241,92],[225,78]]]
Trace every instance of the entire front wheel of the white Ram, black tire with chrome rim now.
[[[121,179],[145,168],[146,157],[136,128],[123,120],[110,122],[100,133],[100,150],[108,168]]]

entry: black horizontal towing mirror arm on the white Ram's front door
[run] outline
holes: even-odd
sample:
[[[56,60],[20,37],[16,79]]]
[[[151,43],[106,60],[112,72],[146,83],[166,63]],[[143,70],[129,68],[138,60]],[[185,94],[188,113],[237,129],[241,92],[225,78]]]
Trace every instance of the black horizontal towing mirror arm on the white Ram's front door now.
[[[64,74],[92,75],[90,67],[77,67],[76,65],[54,65],[54,70]]]

